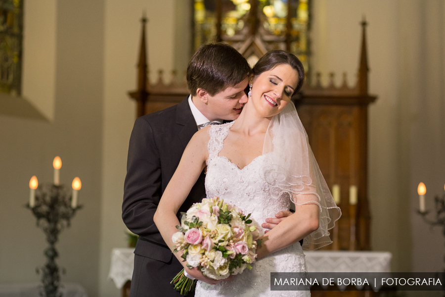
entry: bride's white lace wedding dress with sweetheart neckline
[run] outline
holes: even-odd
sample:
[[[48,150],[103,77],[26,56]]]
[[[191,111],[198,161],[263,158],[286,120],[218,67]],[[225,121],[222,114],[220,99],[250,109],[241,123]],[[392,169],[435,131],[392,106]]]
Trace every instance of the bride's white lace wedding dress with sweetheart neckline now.
[[[209,129],[206,194],[209,198],[223,198],[225,202],[251,213],[250,218],[263,235],[261,224],[266,218],[275,217],[278,211],[288,210],[290,200],[288,197],[279,200],[270,198],[268,184],[261,175],[268,164],[269,154],[258,156],[242,169],[228,158],[218,155],[233,123],[215,125]],[[215,286],[199,281],[195,297],[308,297],[311,296],[309,291],[270,291],[270,272],[304,271],[307,271],[305,255],[300,243],[296,243],[259,259],[251,271],[245,269],[230,281]]]

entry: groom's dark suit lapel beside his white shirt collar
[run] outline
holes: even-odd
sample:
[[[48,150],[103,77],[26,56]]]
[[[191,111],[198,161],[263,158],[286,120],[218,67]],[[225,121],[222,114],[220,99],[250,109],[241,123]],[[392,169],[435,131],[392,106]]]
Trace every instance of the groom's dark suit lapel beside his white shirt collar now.
[[[190,110],[190,105],[188,104],[188,97],[178,104],[176,112],[176,124],[182,126],[178,127],[178,137],[183,147],[185,148],[192,138],[193,134],[198,132],[195,118],[193,117],[193,114]]]

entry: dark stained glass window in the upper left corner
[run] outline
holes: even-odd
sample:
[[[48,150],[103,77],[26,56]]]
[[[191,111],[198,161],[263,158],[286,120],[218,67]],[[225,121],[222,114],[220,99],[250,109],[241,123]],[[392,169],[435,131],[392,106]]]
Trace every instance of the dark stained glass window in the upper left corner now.
[[[0,92],[20,95],[23,0],[0,0]]]

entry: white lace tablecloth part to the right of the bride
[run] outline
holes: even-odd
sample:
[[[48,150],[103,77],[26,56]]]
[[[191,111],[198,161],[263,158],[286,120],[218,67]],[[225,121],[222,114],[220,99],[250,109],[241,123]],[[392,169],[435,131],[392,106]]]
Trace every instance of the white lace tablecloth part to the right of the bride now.
[[[391,272],[389,251],[305,251],[308,272]]]

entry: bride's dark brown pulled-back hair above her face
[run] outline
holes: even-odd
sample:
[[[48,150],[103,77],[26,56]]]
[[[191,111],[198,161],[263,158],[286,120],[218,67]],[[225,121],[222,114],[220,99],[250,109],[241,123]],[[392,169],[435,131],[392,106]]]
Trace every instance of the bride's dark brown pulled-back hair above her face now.
[[[252,69],[254,76],[275,68],[281,64],[288,64],[298,72],[298,85],[295,92],[300,91],[305,81],[305,68],[301,61],[292,53],[284,50],[271,50],[262,56]]]

